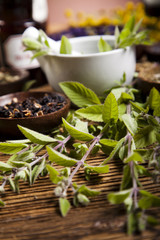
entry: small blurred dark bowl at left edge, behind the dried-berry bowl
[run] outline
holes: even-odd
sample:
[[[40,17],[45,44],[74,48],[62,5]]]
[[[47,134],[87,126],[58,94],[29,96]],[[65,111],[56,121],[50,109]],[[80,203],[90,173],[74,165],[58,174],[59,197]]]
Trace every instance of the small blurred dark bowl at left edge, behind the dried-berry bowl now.
[[[0,81],[0,96],[8,93],[22,91],[25,83],[29,79],[29,72],[26,70],[17,70],[13,68],[1,67],[0,73],[9,73],[11,76],[17,76],[18,80],[6,81],[2,83]]]

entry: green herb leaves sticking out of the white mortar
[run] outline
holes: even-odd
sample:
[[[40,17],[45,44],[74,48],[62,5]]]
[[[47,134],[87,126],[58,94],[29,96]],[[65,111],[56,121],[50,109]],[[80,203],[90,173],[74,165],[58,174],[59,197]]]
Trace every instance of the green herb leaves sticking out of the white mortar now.
[[[136,23],[135,17],[133,16],[125,24],[121,32],[118,27],[116,27],[115,46],[110,46],[110,44],[104,41],[101,37],[99,42],[97,42],[99,52],[106,52],[139,44],[150,44],[150,41],[148,40],[148,32],[146,30],[140,31],[141,22],[142,20]],[[24,38],[23,44],[26,47],[26,51],[34,51],[32,59],[52,53],[47,36],[42,30],[39,31],[38,40]],[[61,39],[60,54],[72,54],[72,46],[69,39],[65,36],[62,36]]]

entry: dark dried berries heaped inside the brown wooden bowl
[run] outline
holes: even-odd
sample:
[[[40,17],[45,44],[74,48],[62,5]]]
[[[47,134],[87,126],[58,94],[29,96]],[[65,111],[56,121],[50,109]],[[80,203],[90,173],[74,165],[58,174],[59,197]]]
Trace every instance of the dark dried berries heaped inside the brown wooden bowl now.
[[[66,104],[66,100],[61,95],[44,95],[40,99],[27,98],[23,102],[18,102],[13,98],[10,104],[0,106],[0,117],[3,118],[26,118],[43,116],[48,113],[58,111]]]

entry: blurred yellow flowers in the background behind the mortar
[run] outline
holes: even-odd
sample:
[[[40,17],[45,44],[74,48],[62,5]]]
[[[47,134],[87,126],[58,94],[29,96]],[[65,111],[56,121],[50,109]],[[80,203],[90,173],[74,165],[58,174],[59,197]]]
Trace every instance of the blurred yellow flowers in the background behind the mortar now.
[[[75,27],[96,27],[101,25],[120,25],[123,26],[128,22],[129,18],[134,15],[136,21],[143,19],[142,27],[150,30],[150,36],[155,41],[160,41],[160,17],[148,16],[145,13],[143,3],[127,2],[124,8],[116,8],[112,10],[112,15],[88,15],[84,12],[78,12],[74,15],[71,9],[65,11],[65,16],[69,19],[69,25]]]

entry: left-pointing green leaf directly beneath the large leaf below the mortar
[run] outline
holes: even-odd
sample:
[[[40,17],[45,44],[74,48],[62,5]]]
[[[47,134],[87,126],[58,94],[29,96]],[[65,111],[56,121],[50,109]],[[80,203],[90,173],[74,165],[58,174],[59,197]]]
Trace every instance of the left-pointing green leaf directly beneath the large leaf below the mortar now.
[[[90,121],[103,122],[102,110],[103,110],[103,105],[94,105],[94,106],[78,109],[76,113],[81,117],[86,118]]]

